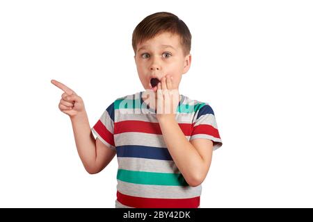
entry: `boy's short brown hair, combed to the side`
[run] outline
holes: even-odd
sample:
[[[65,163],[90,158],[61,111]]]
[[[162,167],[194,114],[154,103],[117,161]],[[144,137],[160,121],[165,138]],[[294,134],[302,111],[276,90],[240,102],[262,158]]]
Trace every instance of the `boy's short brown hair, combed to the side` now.
[[[134,29],[132,44],[135,54],[138,44],[165,32],[177,34],[180,37],[184,55],[190,53],[191,33],[186,24],[170,12],[157,12],[145,17]]]

